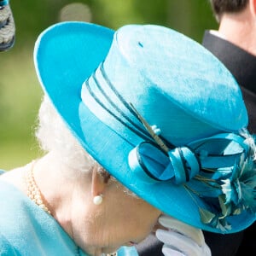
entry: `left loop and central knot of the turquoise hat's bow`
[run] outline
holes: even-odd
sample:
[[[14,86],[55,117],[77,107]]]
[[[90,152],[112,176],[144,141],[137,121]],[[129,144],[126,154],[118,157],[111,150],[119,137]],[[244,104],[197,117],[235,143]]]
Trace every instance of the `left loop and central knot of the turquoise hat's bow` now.
[[[166,154],[151,142],[140,143],[131,151],[129,165],[145,183],[183,184],[200,171],[200,163],[190,148],[174,148]]]

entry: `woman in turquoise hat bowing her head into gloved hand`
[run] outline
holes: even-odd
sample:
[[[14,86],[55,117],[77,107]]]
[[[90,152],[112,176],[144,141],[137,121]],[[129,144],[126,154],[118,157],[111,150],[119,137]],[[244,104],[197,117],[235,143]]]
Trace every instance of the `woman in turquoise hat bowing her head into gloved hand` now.
[[[197,229],[253,223],[247,110],[200,44],[163,26],[64,22],[34,56],[47,154],[0,177],[3,255],[137,255],[158,220],[165,255],[210,255]]]

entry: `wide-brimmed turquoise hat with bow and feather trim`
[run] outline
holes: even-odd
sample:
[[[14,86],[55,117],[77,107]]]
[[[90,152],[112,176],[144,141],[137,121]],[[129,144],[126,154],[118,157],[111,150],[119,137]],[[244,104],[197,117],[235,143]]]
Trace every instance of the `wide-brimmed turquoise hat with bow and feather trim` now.
[[[70,131],[125,187],[202,230],[253,223],[247,109],[207,49],[164,26],[69,21],[38,37],[34,61]]]

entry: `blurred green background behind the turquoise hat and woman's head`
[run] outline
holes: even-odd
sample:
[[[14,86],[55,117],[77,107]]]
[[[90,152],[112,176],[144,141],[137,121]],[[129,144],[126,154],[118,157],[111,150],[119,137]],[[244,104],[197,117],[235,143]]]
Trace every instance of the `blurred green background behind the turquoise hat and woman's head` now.
[[[10,0],[15,45],[0,52],[0,168],[22,166],[41,153],[33,136],[42,91],[33,67],[38,34],[63,20],[83,20],[113,29],[157,24],[201,43],[217,28],[208,0]],[[68,68],[68,65],[67,65]]]

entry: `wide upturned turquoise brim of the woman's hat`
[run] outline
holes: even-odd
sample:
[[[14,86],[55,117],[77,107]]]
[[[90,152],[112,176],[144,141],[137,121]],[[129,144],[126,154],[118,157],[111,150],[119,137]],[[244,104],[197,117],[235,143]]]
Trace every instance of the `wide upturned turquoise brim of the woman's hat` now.
[[[133,149],[124,137],[102,123],[81,100],[84,80],[104,61],[113,30],[84,22],[49,27],[36,43],[34,61],[44,92],[86,151],[125,187],[160,211],[202,230],[233,233],[253,223],[247,213],[228,218],[232,229],[218,230],[201,223],[199,204],[183,186],[143,183],[131,172],[128,154]],[[111,155],[111,157],[109,157]]]

